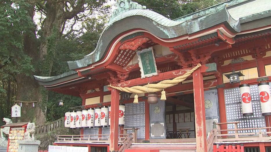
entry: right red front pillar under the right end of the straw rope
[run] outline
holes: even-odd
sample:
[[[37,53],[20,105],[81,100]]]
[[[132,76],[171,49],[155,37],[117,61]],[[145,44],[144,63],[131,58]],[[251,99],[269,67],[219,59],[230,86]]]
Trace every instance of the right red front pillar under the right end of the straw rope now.
[[[207,151],[207,137],[205,124],[205,106],[204,106],[204,90],[203,75],[200,68],[193,72],[194,87],[194,105],[195,105],[195,129],[196,129],[196,151]]]

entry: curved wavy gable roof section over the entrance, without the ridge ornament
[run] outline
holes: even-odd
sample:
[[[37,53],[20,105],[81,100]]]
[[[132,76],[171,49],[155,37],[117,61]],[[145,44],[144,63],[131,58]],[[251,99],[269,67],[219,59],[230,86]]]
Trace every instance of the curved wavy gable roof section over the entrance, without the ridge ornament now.
[[[225,23],[234,33],[240,32],[239,20],[234,20],[224,6],[203,17],[187,21],[172,21],[151,10],[128,10],[109,21],[95,50],[91,54],[86,55],[81,60],[68,61],[68,65],[73,70],[100,61],[105,56],[111,41],[122,32],[131,29],[143,29],[159,38],[171,39],[185,34],[192,34],[221,23]]]

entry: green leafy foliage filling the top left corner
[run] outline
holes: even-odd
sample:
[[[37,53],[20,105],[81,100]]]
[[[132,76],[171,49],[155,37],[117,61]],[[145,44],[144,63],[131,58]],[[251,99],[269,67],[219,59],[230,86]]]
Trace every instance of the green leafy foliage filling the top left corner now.
[[[24,1],[0,1],[0,75],[35,70],[32,58],[24,52],[24,34],[35,30],[33,20],[24,9]]]

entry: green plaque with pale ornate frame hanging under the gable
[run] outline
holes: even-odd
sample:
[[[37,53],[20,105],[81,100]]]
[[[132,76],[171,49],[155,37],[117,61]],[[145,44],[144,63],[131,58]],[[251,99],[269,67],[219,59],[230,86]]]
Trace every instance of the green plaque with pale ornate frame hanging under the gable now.
[[[153,48],[143,49],[137,52],[138,55],[138,65],[140,67],[141,78],[157,76],[157,67],[154,58]]]

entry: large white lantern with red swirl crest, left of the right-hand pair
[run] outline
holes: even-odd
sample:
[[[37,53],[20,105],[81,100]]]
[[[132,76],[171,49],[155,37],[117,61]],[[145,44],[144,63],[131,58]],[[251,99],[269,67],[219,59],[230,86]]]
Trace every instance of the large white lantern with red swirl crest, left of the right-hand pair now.
[[[242,101],[243,116],[253,116],[250,87],[248,84],[239,85]]]

